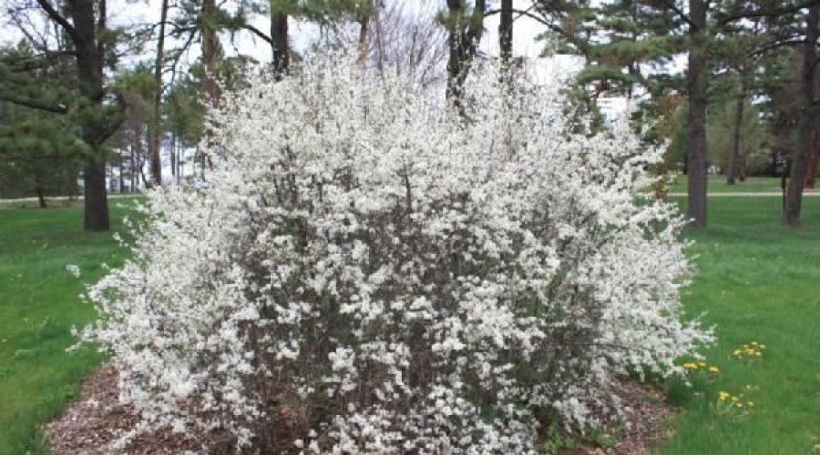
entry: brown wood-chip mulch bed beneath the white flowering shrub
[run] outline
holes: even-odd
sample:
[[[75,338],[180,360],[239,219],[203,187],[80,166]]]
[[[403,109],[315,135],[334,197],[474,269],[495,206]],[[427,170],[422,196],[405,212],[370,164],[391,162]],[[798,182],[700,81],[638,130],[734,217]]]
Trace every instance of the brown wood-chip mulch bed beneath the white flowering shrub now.
[[[667,422],[672,410],[658,390],[634,382],[625,382],[619,389],[624,417],[629,423],[620,432],[619,442],[609,449],[584,447],[564,450],[562,455],[648,454],[669,437]],[[113,450],[112,443],[137,422],[136,411],[119,403],[117,371],[107,365],[86,381],[80,399],[46,424],[44,430],[54,455],[206,453],[200,442],[202,435],[176,434],[170,430],[139,436],[127,449]]]

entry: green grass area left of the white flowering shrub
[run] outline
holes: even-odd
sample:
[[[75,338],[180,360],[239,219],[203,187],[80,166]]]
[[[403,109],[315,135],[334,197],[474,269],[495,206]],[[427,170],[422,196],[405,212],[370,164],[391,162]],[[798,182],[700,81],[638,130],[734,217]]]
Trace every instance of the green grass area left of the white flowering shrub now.
[[[112,204],[114,228],[123,210]],[[52,419],[100,361],[89,349],[66,353],[72,326],[93,309],[81,303],[81,281],[117,264],[110,234],[82,232],[82,210],[0,209],[0,454],[46,452],[39,424]]]

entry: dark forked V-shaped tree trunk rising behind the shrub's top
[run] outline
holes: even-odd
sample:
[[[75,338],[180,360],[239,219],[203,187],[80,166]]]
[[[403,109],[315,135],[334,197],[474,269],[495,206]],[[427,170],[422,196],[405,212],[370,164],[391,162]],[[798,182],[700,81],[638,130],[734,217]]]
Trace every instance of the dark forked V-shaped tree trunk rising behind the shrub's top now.
[[[476,0],[473,14],[466,16],[464,0],[447,0],[447,10],[453,22],[447,38],[450,52],[447,60],[446,96],[461,111],[464,81],[484,31],[487,3],[485,0]]]

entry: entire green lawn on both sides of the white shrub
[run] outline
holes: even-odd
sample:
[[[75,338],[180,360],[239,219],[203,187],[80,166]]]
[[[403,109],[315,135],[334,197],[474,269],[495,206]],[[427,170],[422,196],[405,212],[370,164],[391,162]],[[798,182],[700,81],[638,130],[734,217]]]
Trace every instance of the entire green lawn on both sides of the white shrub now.
[[[112,204],[115,229],[120,202]],[[789,230],[779,198],[712,198],[709,229],[686,233],[697,242],[700,273],[685,303],[717,325],[707,358],[721,372],[696,375],[693,389],[670,384],[683,411],[660,453],[790,455],[820,443],[820,198],[804,207],[806,227]],[[0,454],[45,452],[39,425],[77,396],[101,360],[65,352],[69,328],[93,316],[65,266],[79,265],[92,281],[100,262],[120,260],[109,235],[81,232],[81,217],[77,208],[0,210]],[[766,344],[763,359],[733,359],[753,340]],[[756,410],[718,415],[720,390],[744,392]]]

